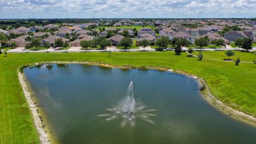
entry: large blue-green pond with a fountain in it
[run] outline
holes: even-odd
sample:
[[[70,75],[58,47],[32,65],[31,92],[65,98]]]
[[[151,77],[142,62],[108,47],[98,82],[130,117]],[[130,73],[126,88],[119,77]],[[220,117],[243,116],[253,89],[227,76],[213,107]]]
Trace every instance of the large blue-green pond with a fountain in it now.
[[[197,81],[184,75],[79,64],[38,65],[24,73],[53,142],[256,142],[254,126],[209,105]],[[124,100],[131,93],[139,106],[122,111],[133,104]]]

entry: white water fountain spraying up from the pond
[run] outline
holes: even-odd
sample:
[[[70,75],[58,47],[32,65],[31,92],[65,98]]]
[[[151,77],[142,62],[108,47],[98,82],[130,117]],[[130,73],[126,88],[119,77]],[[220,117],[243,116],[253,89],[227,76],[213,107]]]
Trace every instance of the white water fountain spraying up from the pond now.
[[[103,114],[99,116],[108,117],[106,121],[116,119],[118,117],[122,118],[121,126],[130,124],[135,126],[136,119],[142,119],[143,121],[154,123],[151,121],[149,116],[156,116],[155,114],[150,114],[149,112],[155,111],[156,109],[147,109],[143,105],[140,99],[135,99],[133,94],[133,82],[130,82],[127,95],[122,98],[116,106],[113,108],[107,108],[108,111],[111,111],[111,114]]]

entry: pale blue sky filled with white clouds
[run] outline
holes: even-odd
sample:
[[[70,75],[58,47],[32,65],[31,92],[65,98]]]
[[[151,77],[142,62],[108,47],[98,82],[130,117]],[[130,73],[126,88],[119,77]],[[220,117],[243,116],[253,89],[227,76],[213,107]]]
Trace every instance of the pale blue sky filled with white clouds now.
[[[0,0],[0,18],[252,18],[256,0]]]

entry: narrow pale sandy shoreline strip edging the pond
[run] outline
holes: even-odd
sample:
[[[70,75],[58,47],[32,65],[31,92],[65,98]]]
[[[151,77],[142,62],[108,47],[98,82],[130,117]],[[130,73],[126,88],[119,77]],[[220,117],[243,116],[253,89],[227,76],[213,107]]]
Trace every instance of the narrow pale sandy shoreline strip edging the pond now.
[[[40,64],[47,64],[47,63],[55,63],[55,64],[86,64],[86,65],[97,65],[97,66],[101,66],[101,67],[109,67],[109,68],[122,68],[122,69],[133,69],[133,68],[141,68],[141,69],[156,69],[156,70],[163,70],[163,71],[168,71],[170,68],[166,68],[166,67],[155,67],[155,66],[147,66],[147,67],[132,67],[132,66],[114,66],[114,65],[108,65],[106,63],[99,63],[99,62],[65,62],[65,61],[51,61],[51,62],[41,62],[38,63]],[[31,65],[33,66],[33,65]],[[181,71],[181,70],[174,70],[174,73],[178,73],[178,74],[182,74],[182,75],[186,75],[189,77],[194,77],[195,75],[191,75],[189,73],[187,73],[186,71]],[[34,118],[34,123],[36,126],[36,129],[39,133],[39,139],[41,141],[41,143],[51,143],[50,142],[50,135],[47,135],[47,133],[44,130],[43,127],[43,123],[41,122],[41,119],[39,118],[39,114],[37,112],[36,107],[31,107],[34,105],[34,101],[31,99],[31,93],[29,92],[29,88],[26,84],[26,79],[25,76],[18,72],[18,76],[19,76],[19,80],[20,80],[20,84],[22,86],[22,90],[25,94],[26,100],[28,105],[30,106],[30,110],[31,113],[33,114],[33,118]],[[207,85],[207,83],[205,82],[205,80],[201,77],[197,77],[197,81],[199,83],[199,85],[204,86],[204,90],[201,91],[202,94],[202,98],[206,100],[206,102],[208,102],[210,105],[214,106],[215,108],[217,108],[218,110],[222,111],[223,113],[236,118],[238,120],[241,120],[245,123],[251,124],[253,126],[256,126],[256,118],[243,113],[242,111],[238,111],[235,110],[229,106],[227,106],[225,103],[223,103],[222,101],[220,101],[219,99],[217,99],[210,91],[209,86]]]

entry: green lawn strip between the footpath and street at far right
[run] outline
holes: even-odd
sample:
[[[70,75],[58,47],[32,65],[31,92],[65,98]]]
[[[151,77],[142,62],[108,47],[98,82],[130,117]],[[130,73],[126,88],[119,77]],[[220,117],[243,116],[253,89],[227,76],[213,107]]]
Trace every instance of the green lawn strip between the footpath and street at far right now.
[[[198,51],[194,51],[192,54],[197,55],[198,53]],[[205,59],[228,59],[228,56],[225,54],[225,51],[204,51],[202,53]],[[237,58],[240,58],[241,61],[255,61],[256,54],[251,52],[235,51],[235,55],[231,56],[230,59],[236,60]]]

